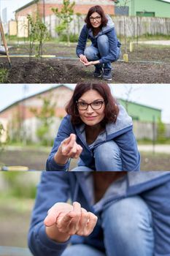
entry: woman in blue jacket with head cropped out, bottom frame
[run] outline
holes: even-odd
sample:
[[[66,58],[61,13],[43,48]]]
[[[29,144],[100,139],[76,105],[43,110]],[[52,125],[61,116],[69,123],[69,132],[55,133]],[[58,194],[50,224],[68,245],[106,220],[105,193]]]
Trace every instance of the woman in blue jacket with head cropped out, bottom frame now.
[[[169,194],[169,171],[43,172],[29,248],[34,256],[169,256]]]

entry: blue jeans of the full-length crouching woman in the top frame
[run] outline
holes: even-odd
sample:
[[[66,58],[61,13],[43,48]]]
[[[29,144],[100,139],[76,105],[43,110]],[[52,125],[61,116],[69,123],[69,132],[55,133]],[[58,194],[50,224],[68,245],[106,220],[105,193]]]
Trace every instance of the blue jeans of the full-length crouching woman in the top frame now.
[[[117,48],[120,51],[120,48]],[[97,61],[109,54],[109,39],[106,34],[101,35],[97,39],[97,48],[93,45],[85,48],[85,56],[88,61]],[[117,58],[118,59],[118,58]],[[104,69],[112,69],[110,61],[104,63]]]

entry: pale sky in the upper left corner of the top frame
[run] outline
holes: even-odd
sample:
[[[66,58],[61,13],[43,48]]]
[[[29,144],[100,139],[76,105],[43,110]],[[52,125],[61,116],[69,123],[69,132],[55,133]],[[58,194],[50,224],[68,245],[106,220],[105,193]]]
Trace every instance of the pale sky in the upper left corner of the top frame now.
[[[165,0],[170,2],[170,0]],[[31,0],[0,0],[0,10],[3,10],[7,7],[7,19],[10,20],[14,18],[14,11],[22,7],[25,4],[28,4]]]

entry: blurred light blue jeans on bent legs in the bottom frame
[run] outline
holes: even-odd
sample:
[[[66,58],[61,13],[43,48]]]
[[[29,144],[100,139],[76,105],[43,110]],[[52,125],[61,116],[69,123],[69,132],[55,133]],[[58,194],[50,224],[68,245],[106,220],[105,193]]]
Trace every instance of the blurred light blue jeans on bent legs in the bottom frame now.
[[[101,214],[106,252],[86,244],[65,249],[61,256],[153,256],[152,214],[139,196],[113,203]]]

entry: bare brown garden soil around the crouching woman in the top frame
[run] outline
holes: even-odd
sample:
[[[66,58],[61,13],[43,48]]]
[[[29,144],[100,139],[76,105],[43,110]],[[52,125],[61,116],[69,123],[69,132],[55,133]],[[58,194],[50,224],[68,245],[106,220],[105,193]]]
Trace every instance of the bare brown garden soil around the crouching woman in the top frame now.
[[[45,49],[45,54],[56,54],[57,51],[57,56],[66,59],[53,58],[41,61],[32,59],[29,62],[28,58],[12,57],[12,68],[9,69],[7,59],[1,58],[1,67],[9,69],[5,83],[77,83],[84,80],[101,80],[101,78],[93,78],[93,67],[84,67],[76,58],[74,46],[70,51],[66,47],[53,50],[53,45],[47,45]],[[19,52],[26,53],[26,49],[21,49]],[[17,53],[16,49],[13,49],[12,53]],[[169,55],[169,47],[140,46],[133,53],[128,53],[128,63],[120,59],[112,64],[111,82],[170,83]]]

